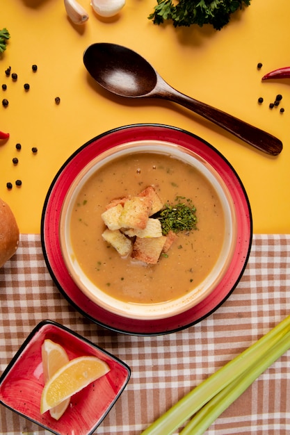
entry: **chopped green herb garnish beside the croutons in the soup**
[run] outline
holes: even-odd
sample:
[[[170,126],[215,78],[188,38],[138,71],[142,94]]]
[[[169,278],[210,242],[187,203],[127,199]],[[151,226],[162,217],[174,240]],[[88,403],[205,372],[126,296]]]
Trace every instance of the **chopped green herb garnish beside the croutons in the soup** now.
[[[163,210],[154,215],[161,222],[163,236],[169,231],[179,233],[179,231],[191,231],[196,229],[198,218],[195,215],[196,208],[191,199],[182,201],[185,197],[176,197],[176,203],[166,204]]]

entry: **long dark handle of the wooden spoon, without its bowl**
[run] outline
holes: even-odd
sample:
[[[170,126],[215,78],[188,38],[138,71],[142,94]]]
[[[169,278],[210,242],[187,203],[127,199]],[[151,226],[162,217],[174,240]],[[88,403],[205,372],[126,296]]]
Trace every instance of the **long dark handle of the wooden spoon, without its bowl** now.
[[[164,84],[167,85],[167,83]],[[275,138],[275,136],[272,136],[270,133],[266,133],[266,131],[260,130],[247,122],[241,121],[222,110],[188,97],[169,85],[168,87],[161,85],[159,87],[158,95],[156,96],[174,101],[177,104],[181,104],[182,106],[193,110],[193,112],[198,113],[198,115],[214,122],[214,124],[229,131],[234,136],[247,142],[253,147],[264,151],[267,154],[271,154],[271,156],[277,156],[277,154],[280,154],[282,151],[283,145],[281,140]]]

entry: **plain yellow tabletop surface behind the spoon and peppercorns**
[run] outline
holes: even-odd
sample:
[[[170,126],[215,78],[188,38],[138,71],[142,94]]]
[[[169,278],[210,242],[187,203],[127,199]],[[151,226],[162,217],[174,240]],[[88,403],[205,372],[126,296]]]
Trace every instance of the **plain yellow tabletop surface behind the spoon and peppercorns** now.
[[[127,0],[114,19],[99,19],[90,0],[79,3],[90,14],[84,26],[71,24],[63,0],[1,1],[0,28],[8,28],[11,38],[0,56],[0,85],[8,85],[5,92],[0,88],[1,100],[9,101],[7,108],[0,106],[0,130],[10,133],[0,145],[0,197],[13,209],[20,231],[40,232],[49,185],[76,149],[115,127],[153,122],[195,133],[232,163],[248,192],[255,233],[289,233],[290,79],[262,83],[261,76],[290,65],[290,1],[252,0],[221,31],[154,26],[147,16],[156,0]],[[83,51],[93,42],[134,49],[177,90],[280,138],[282,154],[267,156],[173,103],[131,101],[99,90],[83,66]],[[18,74],[15,83],[6,78],[9,65]],[[24,83],[31,85],[29,92]],[[268,108],[277,94],[283,96],[283,114]],[[55,97],[61,98],[58,106]]]

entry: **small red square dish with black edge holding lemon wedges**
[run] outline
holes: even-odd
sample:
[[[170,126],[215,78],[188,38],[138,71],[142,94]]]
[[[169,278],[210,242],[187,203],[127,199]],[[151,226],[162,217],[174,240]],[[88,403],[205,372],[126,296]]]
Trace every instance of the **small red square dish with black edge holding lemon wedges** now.
[[[45,339],[63,346],[69,359],[97,356],[110,371],[72,396],[59,420],[40,413],[45,385],[41,346]],[[24,341],[0,378],[0,403],[56,435],[90,435],[95,432],[129,381],[131,370],[124,362],[86,338],[51,320],[40,322]]]

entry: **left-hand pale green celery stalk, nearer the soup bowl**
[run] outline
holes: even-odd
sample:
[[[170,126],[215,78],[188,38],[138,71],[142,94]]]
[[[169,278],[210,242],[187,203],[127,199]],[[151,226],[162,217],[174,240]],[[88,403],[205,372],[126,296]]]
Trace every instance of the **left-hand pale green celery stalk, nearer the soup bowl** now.
[[[242,373],[254,366],[264,355],[271,352],[275,345],[290,332],[290,315],[262,336],[256,343],[229,361],[216,373],[193,388],[179,402],[173,405],[163,416],[147,427],[141,435],[171,435],[193,414],[199,411],[212,397],[231,384]]]

